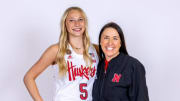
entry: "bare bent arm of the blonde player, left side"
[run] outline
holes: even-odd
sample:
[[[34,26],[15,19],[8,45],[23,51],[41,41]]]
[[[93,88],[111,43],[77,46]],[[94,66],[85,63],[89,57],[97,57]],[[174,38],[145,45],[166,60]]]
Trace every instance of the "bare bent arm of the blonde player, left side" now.
[[[55,61],[57,52],[58,45],[50,46],[24,76],[24,84],[34,101],[43,101],[36,86],[35,79]]]

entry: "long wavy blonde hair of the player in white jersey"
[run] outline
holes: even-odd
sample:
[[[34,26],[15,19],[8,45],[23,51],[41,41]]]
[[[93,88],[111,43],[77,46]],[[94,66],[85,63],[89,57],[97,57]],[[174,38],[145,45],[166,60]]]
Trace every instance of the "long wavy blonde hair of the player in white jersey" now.
[[[59,37],[59,43],[58,43],[59,49],[58,49],[57,58],[56,58],[56,62],[59,66],[59,74],[61,76],[65,75],[65,73],[67,72],[67,64],[64,58],[65,54],[67,53],[68,43],[69,43],[68,31],[66,29],[66,18],[67,18],[68,13],[71,10],[80,11],[85,19],[85,31],[83,33],[83,39],[84,39],[83,40],[83,46],[84,46],[83,58],[86,62],[86,65],[90,66],[92,64],[92,58],[90,57],[89,52],[88,52],[89,47],[90,47],[90,38],[88,35],[88,28],[87,28],[88,22],[87,22],[86,14],[79,7],[70,7],[64,12],[61,19],[61,35]]]

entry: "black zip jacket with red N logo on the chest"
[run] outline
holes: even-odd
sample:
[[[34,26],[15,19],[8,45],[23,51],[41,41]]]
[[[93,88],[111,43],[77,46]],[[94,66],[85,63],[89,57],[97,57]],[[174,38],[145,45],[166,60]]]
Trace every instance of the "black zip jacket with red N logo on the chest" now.
[[[93,101],[149,101],[144,66],[135,58],[120,53],[97,69],[93,85]]]

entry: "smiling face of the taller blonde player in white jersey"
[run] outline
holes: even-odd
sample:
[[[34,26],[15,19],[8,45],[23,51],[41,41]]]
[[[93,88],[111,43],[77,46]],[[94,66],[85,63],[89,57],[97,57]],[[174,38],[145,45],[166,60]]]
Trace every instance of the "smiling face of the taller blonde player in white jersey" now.
[[[66,18],[69,37],[82,37],[85,31],[85,18],[79,10],[69,11]]]

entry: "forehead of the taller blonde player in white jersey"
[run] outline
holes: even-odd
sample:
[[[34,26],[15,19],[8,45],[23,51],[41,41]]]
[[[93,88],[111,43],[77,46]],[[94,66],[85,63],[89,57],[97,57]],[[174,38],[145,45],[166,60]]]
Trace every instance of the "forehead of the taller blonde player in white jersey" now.
[[[79,10],[70,10],[67,15],[67,18],[80,18],[80,17],[84,18],[82,12]]]

